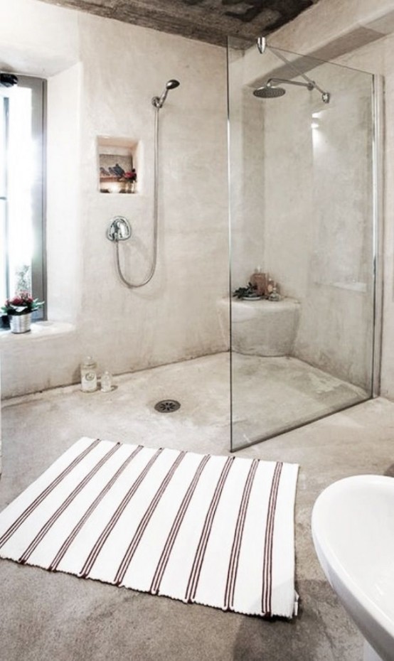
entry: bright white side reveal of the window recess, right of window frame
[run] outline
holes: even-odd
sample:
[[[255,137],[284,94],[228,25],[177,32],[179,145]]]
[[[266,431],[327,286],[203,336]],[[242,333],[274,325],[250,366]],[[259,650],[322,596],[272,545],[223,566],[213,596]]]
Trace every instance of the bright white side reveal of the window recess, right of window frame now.
[[[46,262],[52,321],[77,323],[82,282],[80,222],[82,64],[48,80]]]

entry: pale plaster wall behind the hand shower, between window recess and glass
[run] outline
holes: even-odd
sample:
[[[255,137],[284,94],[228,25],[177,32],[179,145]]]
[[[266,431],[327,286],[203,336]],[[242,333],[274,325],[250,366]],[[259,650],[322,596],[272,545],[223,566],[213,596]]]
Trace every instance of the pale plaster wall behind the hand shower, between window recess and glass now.
[[[101,343],[115,372],[223,350],[215,305],[228,286],[223,50],[116,21],[109,31],[107,21],[87,15],[81,15],[80,25],[85,63],[82,308],[90,302],[82,333],[88,341],[94,338],[93,345]],[[119,284],[114,246],[105,231],[114,213],[132,222],[135,248],[122,251],[125,272],[128,279],[142,281],[152,254],[151,97],[173,77],[181,86],[169,92],[160,111],[156,274],[149,285],[130,291]],[[114,200],[97,192],[97,135],[141,142],[137,195]]]

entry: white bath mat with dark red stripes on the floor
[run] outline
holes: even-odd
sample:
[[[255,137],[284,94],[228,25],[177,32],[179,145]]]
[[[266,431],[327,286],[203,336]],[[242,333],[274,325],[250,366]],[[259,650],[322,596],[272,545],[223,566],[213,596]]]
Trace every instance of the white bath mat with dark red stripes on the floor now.
[[[290,618],[297,470],[82,438],[1,512],[0,556]]]

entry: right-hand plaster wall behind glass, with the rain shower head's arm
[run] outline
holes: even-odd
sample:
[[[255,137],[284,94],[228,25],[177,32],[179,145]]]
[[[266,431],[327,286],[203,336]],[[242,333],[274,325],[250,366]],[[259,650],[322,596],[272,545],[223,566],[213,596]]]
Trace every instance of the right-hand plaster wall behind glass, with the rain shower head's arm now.
[[[265,264],[301,302],[294,355],[368,392],[372,81],[329,64],[313,75],[329,104],[300,88],[265,103]]]

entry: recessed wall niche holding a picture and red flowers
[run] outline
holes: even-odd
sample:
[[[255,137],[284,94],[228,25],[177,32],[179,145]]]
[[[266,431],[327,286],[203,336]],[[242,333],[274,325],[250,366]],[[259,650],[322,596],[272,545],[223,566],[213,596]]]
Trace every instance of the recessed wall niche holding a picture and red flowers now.
[[[137,193],[139,143],[98,136],[97,152],[100,193]]]

